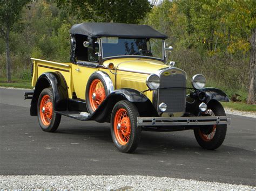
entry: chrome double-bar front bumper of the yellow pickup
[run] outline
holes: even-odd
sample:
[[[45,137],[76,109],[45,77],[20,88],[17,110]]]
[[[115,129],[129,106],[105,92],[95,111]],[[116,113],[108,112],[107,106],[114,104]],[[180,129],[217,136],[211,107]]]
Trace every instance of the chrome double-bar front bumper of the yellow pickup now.
[[[231,118],[227,116],[205,117],[138,117],[137,126],[190,126],[190,125],[226,125]]]

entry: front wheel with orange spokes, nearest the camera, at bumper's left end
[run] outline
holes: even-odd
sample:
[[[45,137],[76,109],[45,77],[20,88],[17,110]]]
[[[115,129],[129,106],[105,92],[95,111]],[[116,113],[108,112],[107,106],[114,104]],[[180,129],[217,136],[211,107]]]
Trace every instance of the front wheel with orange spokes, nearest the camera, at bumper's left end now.
[[[142,129],[137,127],[137,108],[129,101],[122,100],[114,105],[111,114],[111,136],[117,149],[124,153],[136,150]]]

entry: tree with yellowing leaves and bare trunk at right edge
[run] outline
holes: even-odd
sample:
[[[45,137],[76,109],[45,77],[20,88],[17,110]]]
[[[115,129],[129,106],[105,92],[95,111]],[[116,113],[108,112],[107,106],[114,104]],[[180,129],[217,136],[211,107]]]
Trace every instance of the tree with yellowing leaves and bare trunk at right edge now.
[[[255,103],[255,30],[256,30],[256,2],[254,0],[248,1],[234,1],[232,4],[233,12],[227,17],[228,23],[233,27],[233,47],[241,47],[247,51],[251,44],[250,54],[250,73],[248,82],[248,97],[247,103]],[[238,35],[240,34],[240,35]],[[251,34],[251,37],[250,37]],[[232,46],[231,46],[232,47]]]

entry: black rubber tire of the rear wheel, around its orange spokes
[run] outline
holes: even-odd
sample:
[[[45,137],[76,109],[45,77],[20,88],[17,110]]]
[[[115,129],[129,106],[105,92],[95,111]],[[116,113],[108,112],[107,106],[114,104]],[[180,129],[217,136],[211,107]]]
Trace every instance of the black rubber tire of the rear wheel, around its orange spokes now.
[[[47,97],[47,95],[50,97],[50,102],[52,103],[52,110],[51,110],[51,115],[50,115],[51,116],[51,120],[48,121],[49,124],[45,124],[44,119],[43,119],[44,117],[42,118],[43,112],[41,111],[41,101],[42,101],[42,98],[44,96]],[[62,118],[61,115],[56,114],[53,111],[53,108],[54,108],[53,104],[54,104],[54,102],[53,102],[52,89],[51,88],[43,89],[43,91],[39,95],[38,102],[37,102],[37,118],[38,118],[38,122],[39,122],[39,125],[40,125],[41,129],[43,131],[46,131],[46,132],[55,132],[57,130],[58,126],[59,126],[60,119]]]

